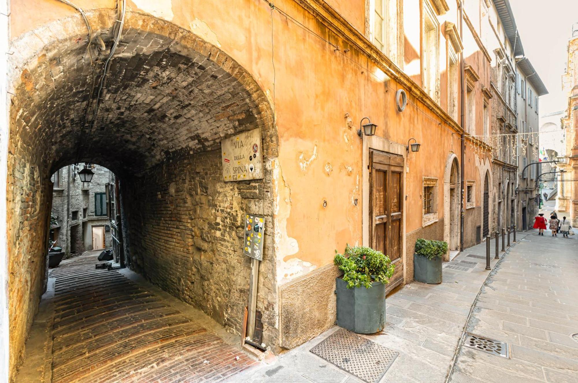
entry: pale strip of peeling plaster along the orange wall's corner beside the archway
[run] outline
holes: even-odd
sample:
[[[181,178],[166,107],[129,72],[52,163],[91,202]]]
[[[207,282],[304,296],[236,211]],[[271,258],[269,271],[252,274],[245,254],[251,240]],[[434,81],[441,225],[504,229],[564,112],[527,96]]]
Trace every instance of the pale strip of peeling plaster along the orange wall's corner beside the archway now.
[[[287,234],[287,219],[291,213],[291,187],[287,185],[283,178],[279,159],[272,160],[271,169],[273,172],[273,192],[275,193],[275,207],[273,208],[273,227],[275,227],[275,232],[273,241],[275,243],[275,254],[277,254],[277,284],[281,284],[304,275],[317,268],[317,266],[310,262],[303,262],[299,258],[285,260],[287,257],[299,252],[297,239],[291,238]]]

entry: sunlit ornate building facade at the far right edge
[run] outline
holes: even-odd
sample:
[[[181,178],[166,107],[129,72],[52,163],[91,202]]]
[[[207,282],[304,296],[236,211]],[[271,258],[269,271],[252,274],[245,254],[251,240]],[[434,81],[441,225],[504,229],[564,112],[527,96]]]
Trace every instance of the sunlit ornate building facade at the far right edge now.
[[[572,227],[578,226],[578,22],[573,25],[568,41],[568,62],[562,76],[562,89],[568,93],[568,105],[562,118],[566,134],[566,153],[557,168],[564,170],[558,182],[556,208],[570,218]]]

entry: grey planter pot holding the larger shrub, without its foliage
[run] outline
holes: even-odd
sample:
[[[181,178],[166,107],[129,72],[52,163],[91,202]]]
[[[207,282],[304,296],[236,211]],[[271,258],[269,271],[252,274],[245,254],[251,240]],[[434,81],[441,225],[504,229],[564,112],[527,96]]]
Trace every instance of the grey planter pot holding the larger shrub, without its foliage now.
[[[373,282],[371,288],[347,288],[336,279],[337,325],[360,334],[373,334],[386,326],[386,285]]]

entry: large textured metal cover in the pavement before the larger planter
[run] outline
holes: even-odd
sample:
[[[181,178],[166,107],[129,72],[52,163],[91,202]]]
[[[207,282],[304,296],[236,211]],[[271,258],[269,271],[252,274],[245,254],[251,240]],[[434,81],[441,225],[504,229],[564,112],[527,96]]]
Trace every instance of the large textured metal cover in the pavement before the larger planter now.
[[[368,383],[379,381],[399,355],[346,329],[334,332],[310,351]]]

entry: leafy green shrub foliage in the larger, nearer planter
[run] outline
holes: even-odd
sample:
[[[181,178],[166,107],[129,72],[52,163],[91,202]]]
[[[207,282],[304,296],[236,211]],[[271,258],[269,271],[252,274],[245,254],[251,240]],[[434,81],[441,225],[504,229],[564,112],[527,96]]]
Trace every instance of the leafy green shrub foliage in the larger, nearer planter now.
[[[371,283],[375,281],[389,283],[395,269],[390,258],[381,251],[365,246],[347,245],[343,254],[335,250],[333,262],[343,272],[343,280],[347,282],[347,288],[361,286],[370,288]]]

